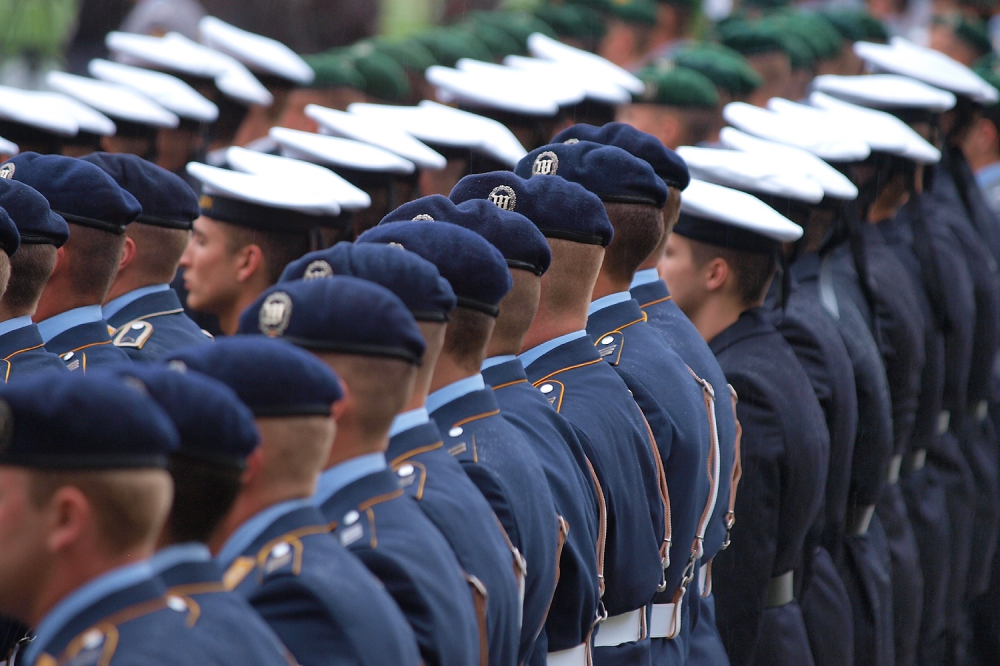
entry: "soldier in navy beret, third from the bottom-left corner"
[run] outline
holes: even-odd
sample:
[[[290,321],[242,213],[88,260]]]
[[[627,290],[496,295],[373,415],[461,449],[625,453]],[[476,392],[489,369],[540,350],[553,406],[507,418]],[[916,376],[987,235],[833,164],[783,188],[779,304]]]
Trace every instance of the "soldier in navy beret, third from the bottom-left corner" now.
[[[170,355],[168,365],[233,389],[260,446],[209,540],[223,583],[250,602],[303,666],[420,662],[392,598],[328,534],[310,496],[336,429],[337,377],[290,345],[239,337]]]

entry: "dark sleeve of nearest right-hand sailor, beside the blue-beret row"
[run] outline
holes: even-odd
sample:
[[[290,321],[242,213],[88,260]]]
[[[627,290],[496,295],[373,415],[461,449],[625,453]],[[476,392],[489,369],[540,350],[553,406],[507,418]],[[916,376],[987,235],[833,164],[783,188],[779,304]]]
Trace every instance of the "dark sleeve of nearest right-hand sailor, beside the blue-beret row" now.
[[[780,515],[783,450],[774,407],[749,382],[730,377],[740,397],[743,478],[736,495],[739,519],[729,548],[712,565],[719,633],[732,666],[754,663],[768,581],[774,568]]]

